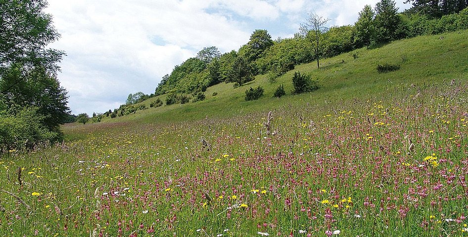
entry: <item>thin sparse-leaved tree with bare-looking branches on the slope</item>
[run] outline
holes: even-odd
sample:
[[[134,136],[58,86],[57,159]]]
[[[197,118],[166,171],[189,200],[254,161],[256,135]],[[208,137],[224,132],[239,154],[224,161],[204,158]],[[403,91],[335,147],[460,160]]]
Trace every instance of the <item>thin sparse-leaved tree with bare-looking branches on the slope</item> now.
[[[320,68],[319,58],[323,49],[323,34],[327,31],[326,24],[330,20],[316,13],[309,13],[309,18],[301,24],[299,33],[310,41],[317,59],[317,68]]]

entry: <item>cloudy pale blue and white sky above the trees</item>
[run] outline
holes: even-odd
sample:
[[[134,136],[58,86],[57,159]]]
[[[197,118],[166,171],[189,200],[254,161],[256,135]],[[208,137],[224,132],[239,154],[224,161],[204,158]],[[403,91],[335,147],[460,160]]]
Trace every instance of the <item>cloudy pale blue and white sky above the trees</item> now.
[[[48,0],[64,50],[59,80],[73,114],[103,113],[154,92],[175,65],[207,46],[237,50],[255,29],[292,37],[307,13],[354,24],[378,0]],[[397,0],[400,11],[409,7]]]

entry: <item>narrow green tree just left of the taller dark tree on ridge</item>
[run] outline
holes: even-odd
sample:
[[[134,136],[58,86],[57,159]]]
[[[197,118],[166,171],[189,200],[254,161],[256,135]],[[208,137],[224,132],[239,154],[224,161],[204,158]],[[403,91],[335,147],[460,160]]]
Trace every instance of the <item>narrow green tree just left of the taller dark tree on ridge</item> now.
[[[354,24],[356,29],[356,40],[364,43],[369,48],[371,39],[374,36],[374,11],[370,5],[364,6],[361,12],[359,12],[358,21]]]

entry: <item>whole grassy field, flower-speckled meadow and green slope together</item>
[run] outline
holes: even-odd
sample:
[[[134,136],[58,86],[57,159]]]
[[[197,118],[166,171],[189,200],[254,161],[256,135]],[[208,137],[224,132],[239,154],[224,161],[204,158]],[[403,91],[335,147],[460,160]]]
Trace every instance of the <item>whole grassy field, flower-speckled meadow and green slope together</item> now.
[[[313,93],[272,98],[292,71],[68,124],[1,157],[0,236],[468,236],[467,35],[297,66]]]

